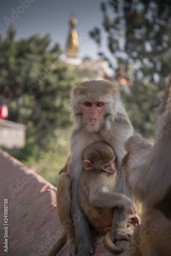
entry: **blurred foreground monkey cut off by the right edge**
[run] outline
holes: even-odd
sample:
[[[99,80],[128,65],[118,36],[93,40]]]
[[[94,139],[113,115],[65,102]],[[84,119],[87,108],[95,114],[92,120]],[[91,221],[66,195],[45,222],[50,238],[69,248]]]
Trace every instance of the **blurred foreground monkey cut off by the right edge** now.
[[[131,256],[169,256],[171,251],[171,79],[158,113],[153,147],[140,135],[125,143],[122,169],[144,207],[142,224],[133,233]]]

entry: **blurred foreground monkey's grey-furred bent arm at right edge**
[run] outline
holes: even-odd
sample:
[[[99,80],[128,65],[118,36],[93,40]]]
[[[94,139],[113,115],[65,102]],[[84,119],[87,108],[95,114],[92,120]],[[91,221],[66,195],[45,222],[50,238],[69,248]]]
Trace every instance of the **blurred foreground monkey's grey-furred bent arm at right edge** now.
[[[153,147],[139,134],[125,143],[128,153],[122,160],[122,170],[134,195],[147,206],[161,201],[171,184],[171,144],[167,136],[169,132]]]

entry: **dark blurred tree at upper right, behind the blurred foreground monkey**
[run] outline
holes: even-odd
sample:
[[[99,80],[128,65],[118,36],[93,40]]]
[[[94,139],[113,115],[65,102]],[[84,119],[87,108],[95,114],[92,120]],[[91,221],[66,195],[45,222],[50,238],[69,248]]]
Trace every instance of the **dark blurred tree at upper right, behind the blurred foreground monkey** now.
[[[171,4],[109,0],[101,3],[101,11],[103,28],[95,27],[90,36],[100,47],[101,30],[106,32],[115,78],[127,81],[121,94],[131,122],[136,132],[151,137],[154,108],[159,104],[157,92],[163,90],[171,70]],[[100,50],[99,55],[106,57]]]

